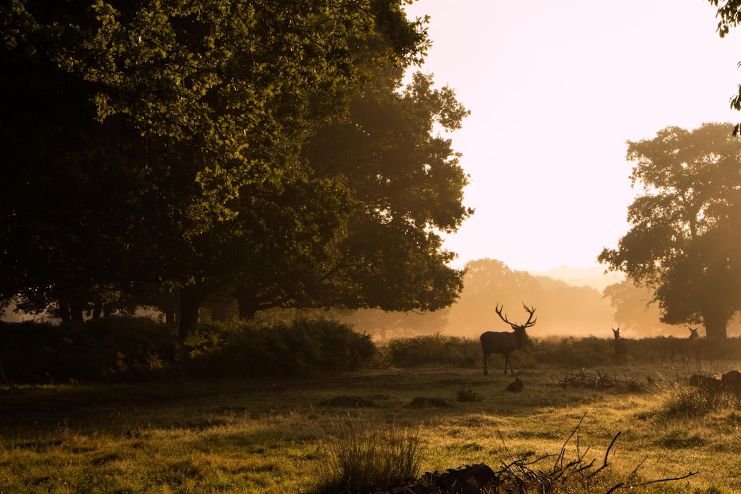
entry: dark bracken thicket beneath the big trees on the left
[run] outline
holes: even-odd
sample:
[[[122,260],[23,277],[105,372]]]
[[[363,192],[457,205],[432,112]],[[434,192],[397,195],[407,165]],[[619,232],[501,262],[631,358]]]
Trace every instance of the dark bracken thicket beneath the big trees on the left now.
[[[44,384],[298,377],[368,366],[375,351],[371,338],[334,321],[210,323],[182,346],[172,327],[146,318],[1,324],[0,378],[5,384]]]

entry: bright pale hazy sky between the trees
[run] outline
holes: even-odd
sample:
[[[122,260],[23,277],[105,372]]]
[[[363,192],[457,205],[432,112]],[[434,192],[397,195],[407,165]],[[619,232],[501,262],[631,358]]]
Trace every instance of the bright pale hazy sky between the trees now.
[[[706,0],[418,0],[433,47],[420,70],[471,110],[453,148],[476,213],[453,264],[597,266],[628,231],[625,141],[670,125],[741,121],[741,32]],[[741,31],[741,27],[737,28]]]

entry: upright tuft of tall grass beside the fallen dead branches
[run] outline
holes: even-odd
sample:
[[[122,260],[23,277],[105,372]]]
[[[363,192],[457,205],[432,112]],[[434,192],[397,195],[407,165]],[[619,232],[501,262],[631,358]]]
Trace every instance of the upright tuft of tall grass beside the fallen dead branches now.
[[[425,455],[416,427],[396,423],[388,427],[366,424],[362,419],[334,423],[325,443],[329,472],[321,492],[347,490],[361,493],[382,489],[419,475]]]

